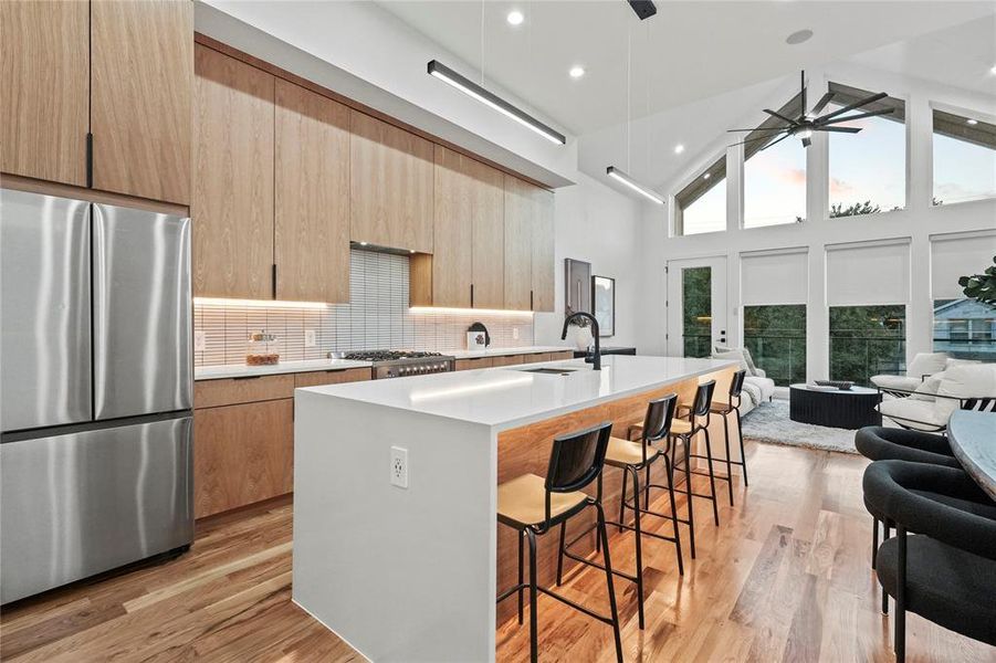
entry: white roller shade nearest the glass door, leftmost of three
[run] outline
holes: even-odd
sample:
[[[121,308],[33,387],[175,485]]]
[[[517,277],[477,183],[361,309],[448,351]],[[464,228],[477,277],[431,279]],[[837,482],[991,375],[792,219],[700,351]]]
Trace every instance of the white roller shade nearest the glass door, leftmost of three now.
[[[744,306],[806,304],[809,253],[805,249],[741,254]]]

